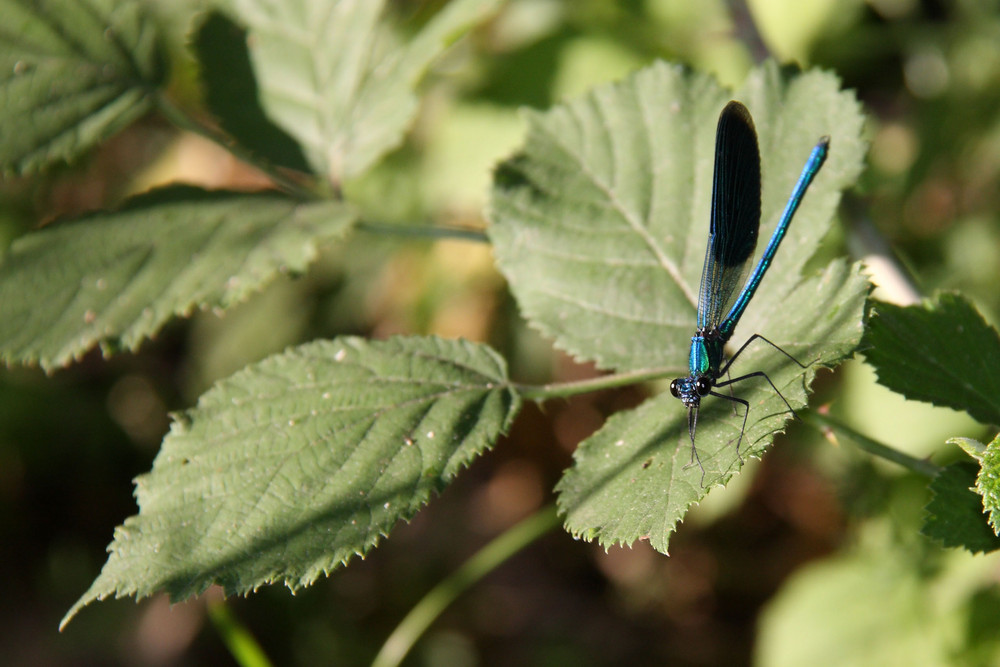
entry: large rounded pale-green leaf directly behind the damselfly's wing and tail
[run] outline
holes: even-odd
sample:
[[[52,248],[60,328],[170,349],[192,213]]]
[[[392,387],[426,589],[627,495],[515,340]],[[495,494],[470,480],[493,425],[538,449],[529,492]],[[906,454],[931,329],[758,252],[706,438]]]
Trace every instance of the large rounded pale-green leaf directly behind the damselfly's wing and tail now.
[[[840,190],[860,170],[857,102],[821,72],[786,83],[771,65],[732,93],[657,63],[529,112],[523,151],[496,171],[489,232],[500,270],[532,326],[577,359],[620,371],[684,370],[708,240],[715,125],[731,97],[747,104],[760,139],[761,238],[817,140],[832,137],[733,338],[761,333],[793,355],[815,340],[787,335],[787,319],[812,314],[783,302],[829,229]]]

